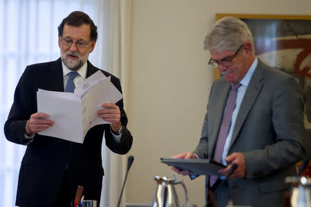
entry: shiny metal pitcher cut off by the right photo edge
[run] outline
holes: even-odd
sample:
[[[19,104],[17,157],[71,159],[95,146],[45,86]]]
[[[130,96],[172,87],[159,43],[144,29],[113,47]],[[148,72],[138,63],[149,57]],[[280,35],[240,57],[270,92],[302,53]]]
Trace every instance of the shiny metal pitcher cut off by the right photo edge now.
[[[285,182],[291,186],[285,206],[311,207],[310,177],[286,177]]]

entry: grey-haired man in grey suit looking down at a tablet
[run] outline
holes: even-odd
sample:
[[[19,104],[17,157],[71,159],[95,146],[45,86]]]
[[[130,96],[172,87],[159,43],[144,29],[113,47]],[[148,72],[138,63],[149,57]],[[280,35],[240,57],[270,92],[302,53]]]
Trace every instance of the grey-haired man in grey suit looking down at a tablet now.
[[[217,21],[207,34],[205,49],[211,53],[209,64],[223,77],[211,88],[197,148],[173,158],[216,159],[227,165],[219,171],[223,175],[237,164],[222,186],[217,184],[223,177],[207,177],[207,188],[218,188],[218,206],[232,199],[236,205],[281,207],[288,189],[284,179],[295,175],[295,163],[305,153],[299,85],[254,55],[254,39],[240,19]]]

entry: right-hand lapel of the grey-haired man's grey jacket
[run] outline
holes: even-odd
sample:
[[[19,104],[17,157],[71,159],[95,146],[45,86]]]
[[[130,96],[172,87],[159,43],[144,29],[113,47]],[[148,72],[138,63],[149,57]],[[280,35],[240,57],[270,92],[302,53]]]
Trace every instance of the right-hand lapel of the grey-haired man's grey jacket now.
[[[249,81],[249,85],[245,91],[245,95],[243,97],[240,110],[238,111],[238,116],[236,117],[236,124],[234,126],[234,131],[232,133],[232,139],[230,142],[229,149],[234,144],[236,137],[238,137],[238,132],[241,130],[241,127],[243,126],[243,123],[249,113],[249,110],[251,110],[252,106],[254,105],[254,102],[256,101],[256,98],[262,86],[263,86],[263,68],[261,61],[258,59],[258,65],[256,67],[256,70],[254,71],[252,79]]]

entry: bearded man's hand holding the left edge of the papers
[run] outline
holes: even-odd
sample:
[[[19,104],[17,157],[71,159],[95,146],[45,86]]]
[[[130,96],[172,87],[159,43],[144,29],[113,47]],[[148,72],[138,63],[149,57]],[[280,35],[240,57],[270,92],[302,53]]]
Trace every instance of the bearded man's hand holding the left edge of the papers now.
[[[26,123],[26,135],[31,135],[32,133],[41,132],[47,128],[53,126],[54,121],[48,119],[50,115],[46,113],[37,112],[30,116]]]

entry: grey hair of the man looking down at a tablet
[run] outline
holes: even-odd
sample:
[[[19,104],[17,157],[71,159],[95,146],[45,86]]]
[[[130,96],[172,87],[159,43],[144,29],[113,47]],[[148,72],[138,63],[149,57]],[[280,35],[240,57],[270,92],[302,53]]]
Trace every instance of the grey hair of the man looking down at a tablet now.
[[[205,50],[238,50],[249,42],[254,54],[254,37],[247,24],[236,17],[223,17],[215,23],[204,41]]]

